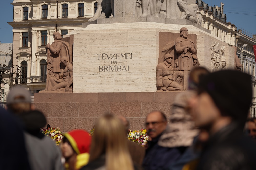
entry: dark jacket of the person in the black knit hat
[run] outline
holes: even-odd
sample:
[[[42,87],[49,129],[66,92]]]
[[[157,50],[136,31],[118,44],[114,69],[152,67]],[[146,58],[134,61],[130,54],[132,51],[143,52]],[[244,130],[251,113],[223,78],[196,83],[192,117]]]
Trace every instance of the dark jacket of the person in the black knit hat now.
[[[201,154],[198,170],[256,169],[255,143],[244,136],[236,123],[210,136]]]

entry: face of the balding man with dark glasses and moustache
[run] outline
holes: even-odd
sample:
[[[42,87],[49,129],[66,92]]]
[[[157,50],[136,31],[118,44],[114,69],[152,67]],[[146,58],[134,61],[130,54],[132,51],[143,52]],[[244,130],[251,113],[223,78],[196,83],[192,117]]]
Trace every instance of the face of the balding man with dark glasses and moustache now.
[[[160,135],[166,128],[166,121],[159,112],[152,112],[147,115],[146,129],[147,134],[152,139]]]

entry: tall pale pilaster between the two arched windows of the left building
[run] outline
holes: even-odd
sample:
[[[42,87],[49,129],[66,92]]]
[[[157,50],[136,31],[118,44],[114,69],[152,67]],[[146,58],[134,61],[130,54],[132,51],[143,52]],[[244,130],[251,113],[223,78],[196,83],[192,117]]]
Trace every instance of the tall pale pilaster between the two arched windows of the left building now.
[[[32,32],[31,76],[36,76],[35,62],[36,62],[37,30],[32,30],[31,32]],[[30,72],[29,68],[28,68],[28,72]]]

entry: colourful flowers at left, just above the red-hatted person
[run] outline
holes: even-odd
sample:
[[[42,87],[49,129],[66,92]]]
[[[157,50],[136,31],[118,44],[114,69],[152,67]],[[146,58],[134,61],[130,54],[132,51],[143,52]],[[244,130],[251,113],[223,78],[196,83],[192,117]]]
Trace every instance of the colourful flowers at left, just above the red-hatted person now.
[[[60,131],[59,128],[48,127],[47,129],[42,128],[41,132],[49,136],[53,141],[56,142],[56,145],[60,145],[61,140],[63,139],[63,133]]]

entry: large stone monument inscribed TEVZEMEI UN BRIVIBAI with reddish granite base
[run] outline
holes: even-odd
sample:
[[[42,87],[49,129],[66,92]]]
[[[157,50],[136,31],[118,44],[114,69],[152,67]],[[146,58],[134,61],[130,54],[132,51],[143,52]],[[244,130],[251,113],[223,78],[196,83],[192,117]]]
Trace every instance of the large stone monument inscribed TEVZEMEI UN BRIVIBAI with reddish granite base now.
[[[54,34],[54,43],[47,45],[45,92],[51,93],[34,94],[36,108],[63,132],[91,130],[104,112],[127,117],[132,130],[145,128],[143,122],[152,110],[170,117],[173,99],[187,90],[193,67],[235,67],[234,48],[197,24],[193,4],[98,1],[90,22],[64,35],[63,41]],[[65,38],[73,38],[73,53]]]

